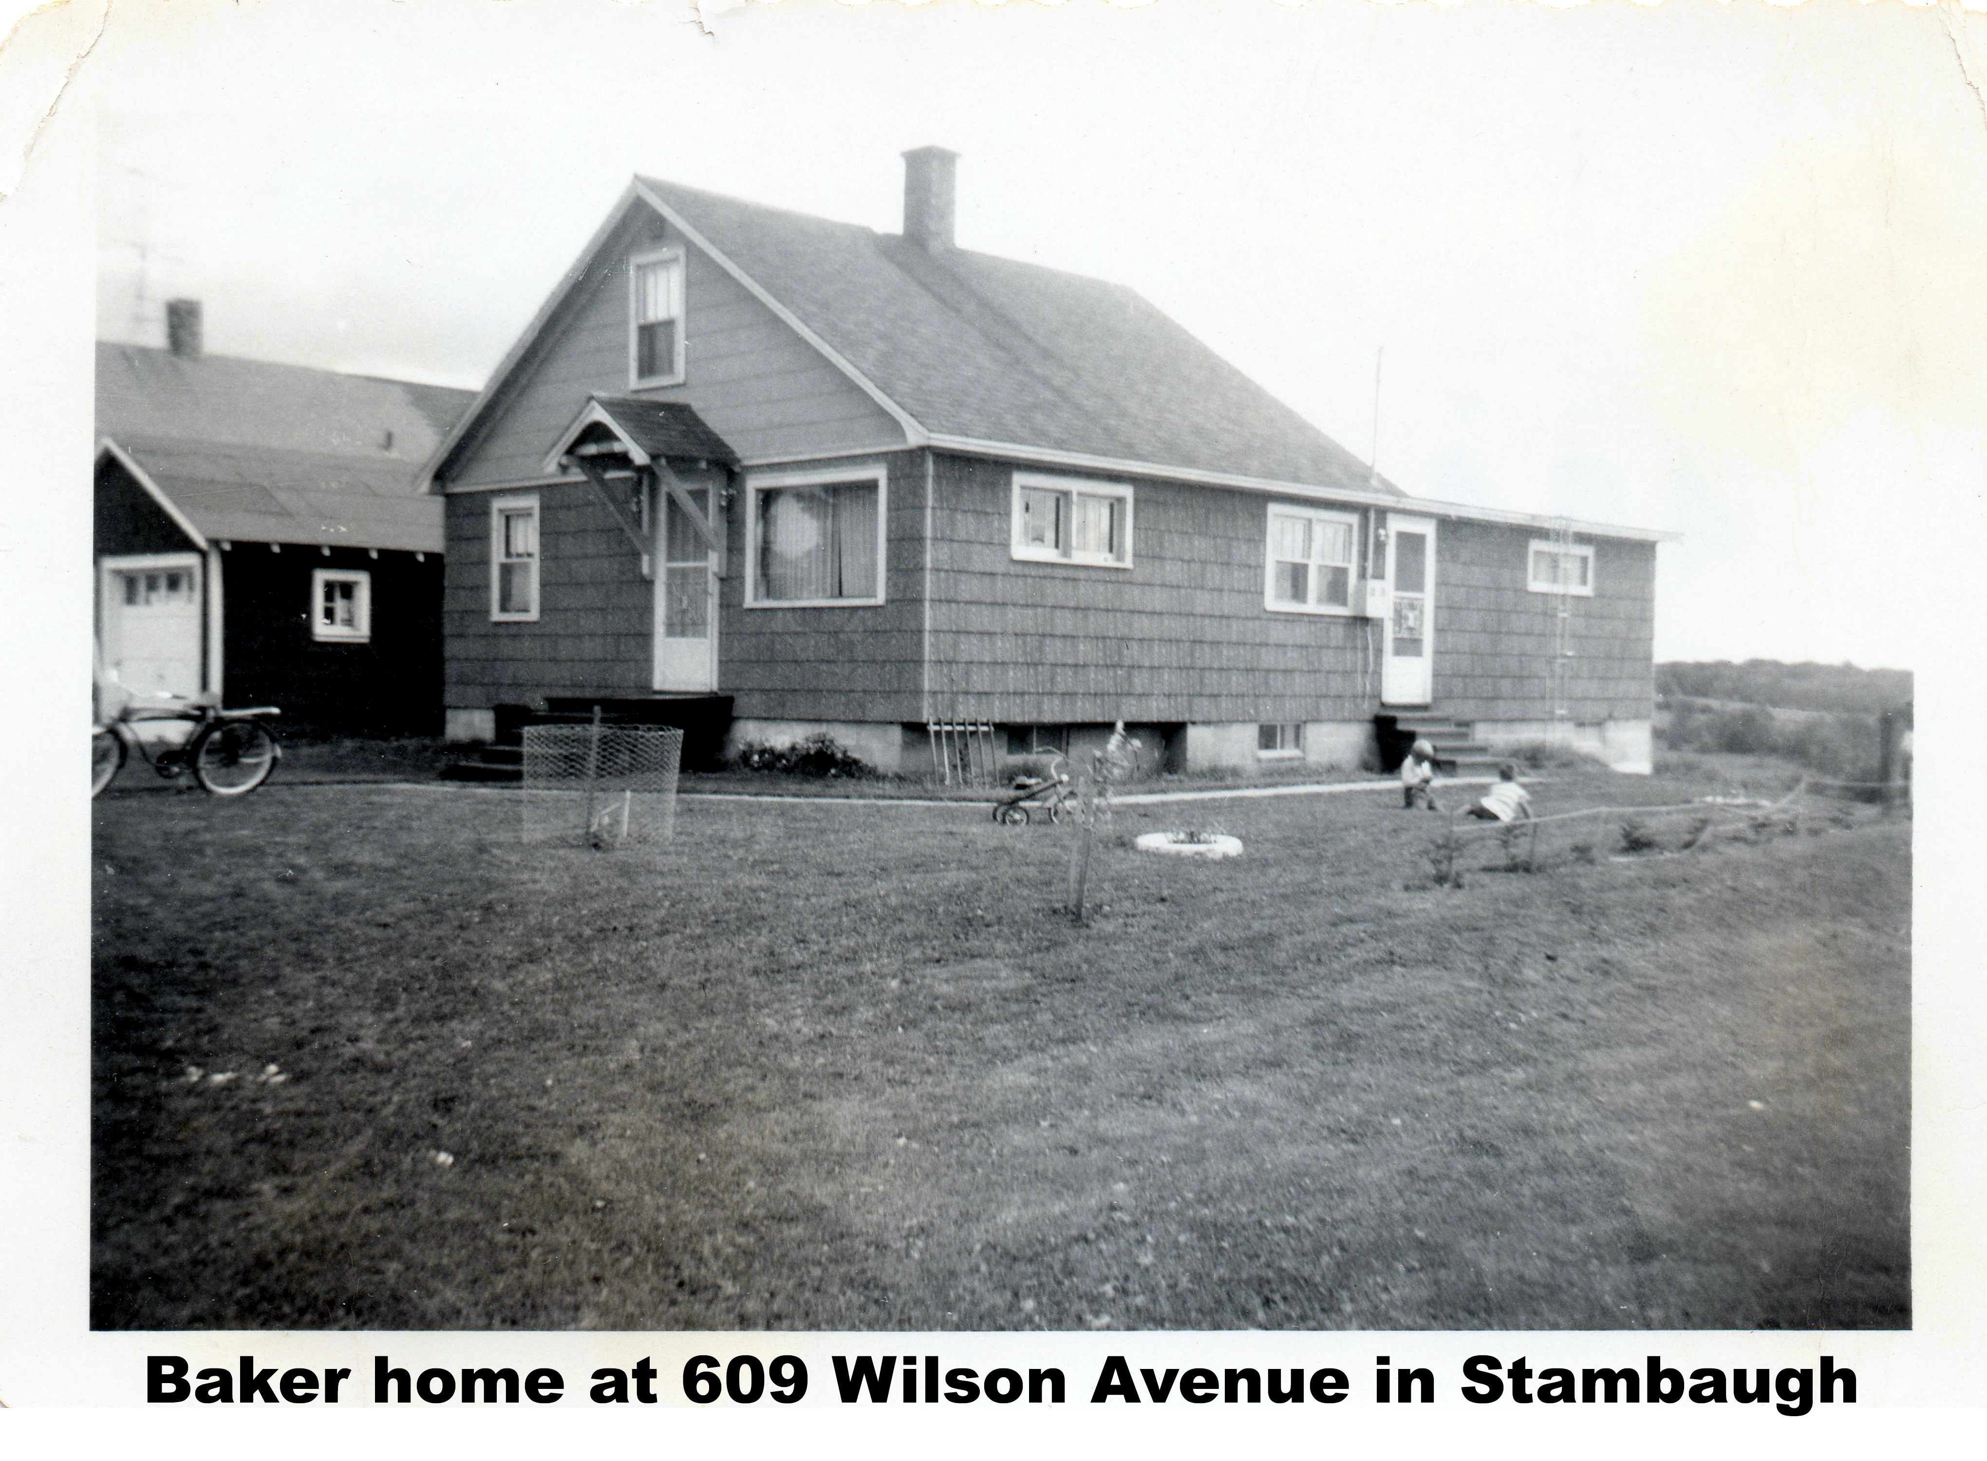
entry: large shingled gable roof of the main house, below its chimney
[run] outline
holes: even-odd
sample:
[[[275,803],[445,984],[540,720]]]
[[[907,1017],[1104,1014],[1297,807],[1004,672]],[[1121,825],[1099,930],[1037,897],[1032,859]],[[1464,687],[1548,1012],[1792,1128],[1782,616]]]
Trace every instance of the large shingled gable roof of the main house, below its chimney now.
[[[896,415],[912,445],[1401,495],[1123,284],[970,250],[932,256],[898,235],[648,177],[566,270],[429,475],[644,203]]]

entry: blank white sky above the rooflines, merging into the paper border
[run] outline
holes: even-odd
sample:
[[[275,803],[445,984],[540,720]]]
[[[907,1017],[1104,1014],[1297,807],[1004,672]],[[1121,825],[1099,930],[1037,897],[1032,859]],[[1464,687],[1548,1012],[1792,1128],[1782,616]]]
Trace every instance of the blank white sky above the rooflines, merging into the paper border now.
[[[1657,658],[1915,668],[1987,479],[1987,14],[117,0],[97,334],[481,386],[644,171],[1115,278],[1413,495],[1681,535]],[[1377,368],[1379,366],[1379,368]],[[1375,437],[1375,376],[1379,386]]]

